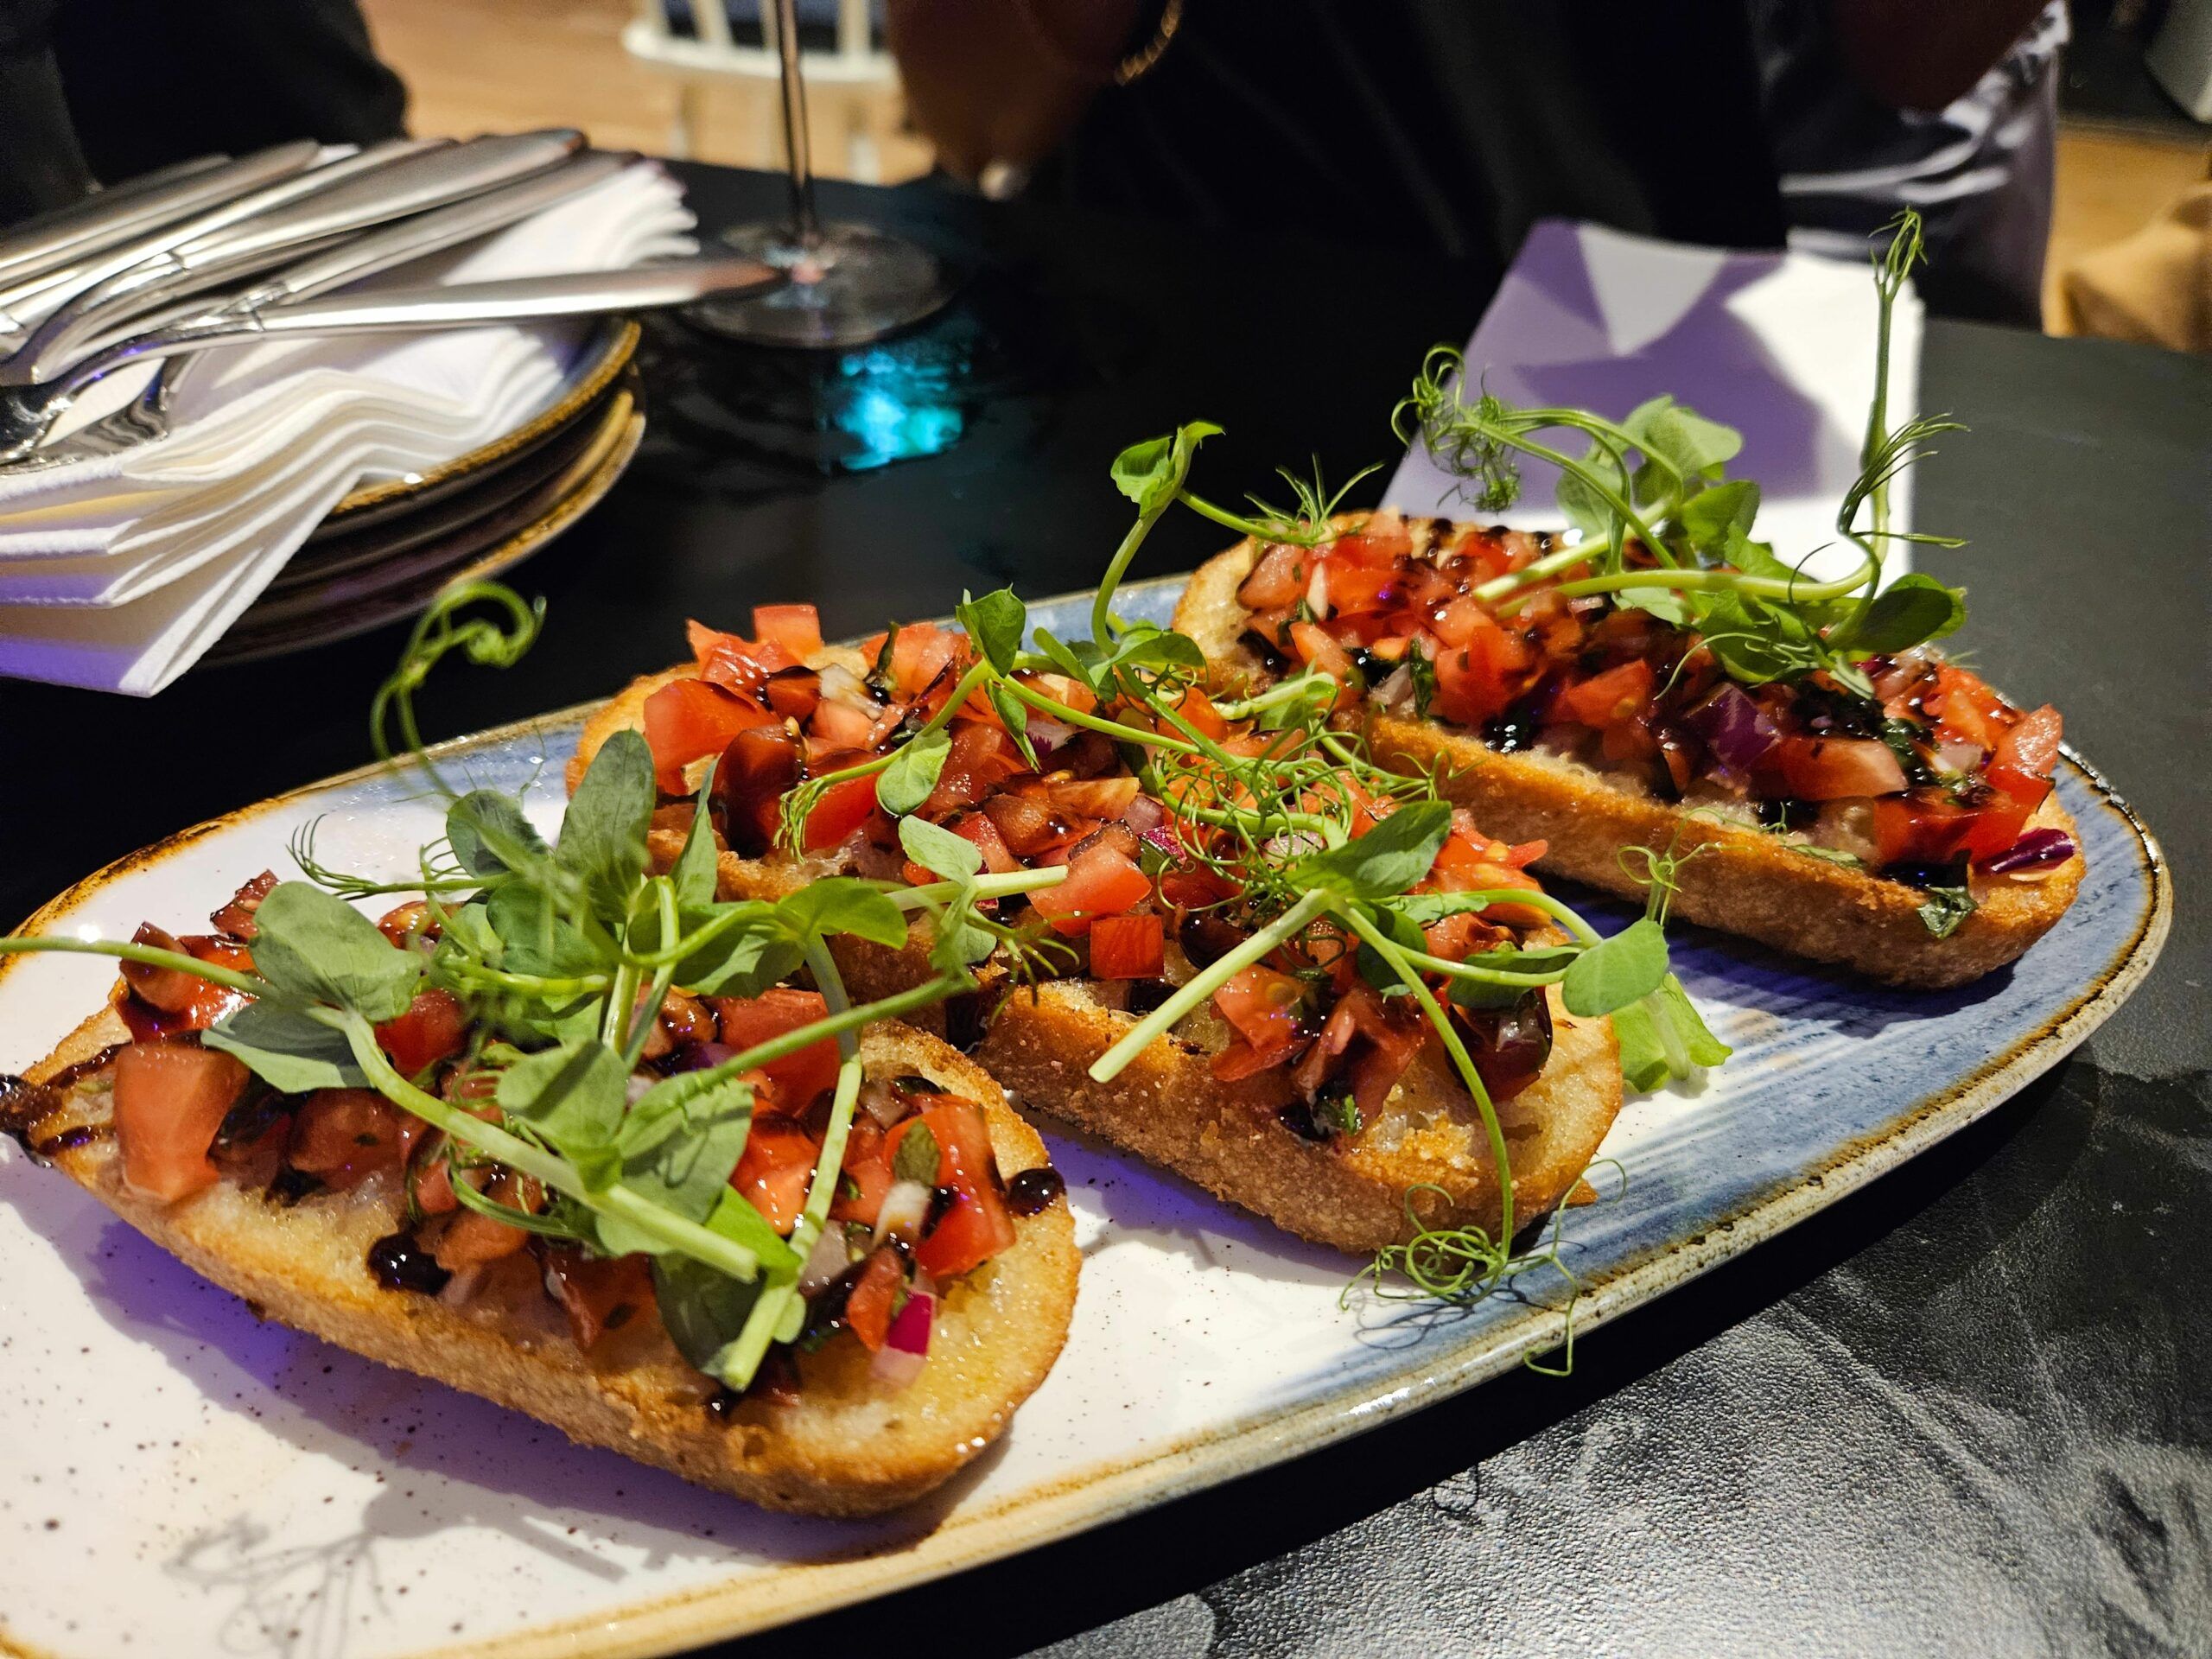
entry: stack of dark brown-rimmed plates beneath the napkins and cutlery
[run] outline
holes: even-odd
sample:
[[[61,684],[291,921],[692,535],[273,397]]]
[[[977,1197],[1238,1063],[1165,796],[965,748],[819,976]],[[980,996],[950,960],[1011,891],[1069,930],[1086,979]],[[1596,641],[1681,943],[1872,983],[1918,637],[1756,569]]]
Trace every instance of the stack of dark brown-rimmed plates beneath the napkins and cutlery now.
[[[646,429],[639,327],[597,330],[549,407],[442,467],[341,500],[204,661],[252,661],[414,615],[449,582],[498,575],[584,515]]]

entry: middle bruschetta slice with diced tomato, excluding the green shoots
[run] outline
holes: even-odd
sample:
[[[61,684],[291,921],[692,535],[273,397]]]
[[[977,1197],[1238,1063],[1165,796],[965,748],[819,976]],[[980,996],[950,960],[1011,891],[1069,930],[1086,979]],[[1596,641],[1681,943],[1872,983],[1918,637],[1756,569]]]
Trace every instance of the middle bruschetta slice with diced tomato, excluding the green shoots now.
[[[1418,1225],[1498,1230],[1509,1208],[1482,1110],[1411,1000],[1363,982],[1349,953],[1254,962],[1117,1075],[1093,1075],[1146,1013],[1245,938],[1232,920],[1234,878],[1194,849],[1177,807],[1148,794],[1099,730],[1031,710],[1024,754],[1002,706],[975,692],[942,723],[942,770],[902,812],[860,779],[816,792],[803,823],[792,818],[794,790],[856,757],[898,752],[973,661],[964,633],[931,624],[858,648],[823,646],[812,615],[792,606],[757,613],[754,637],[695,624],[692,661],[637,679],[588,719],[571,776],[613,734],[644,732],[664,792],[653,852],[672,860],[688,796],[712,765],[728,898],[770,898],[825,874],[931,883],[905,849],[907,818],[973,843],[987,880],[1064,869],[1055,887],[1000,900],[1004,927],[1037,936],[1044,971],[1018,980],[1004,964],[987,969],[984,993],[949,1004],[953,1040],[1018,1102],[1338,1250],[1369,1254]],[[1031,679],[1091,708],[1066,677]],[[1203,692],[1179,717],[1248,741]],[[1263,752],[1267,739],[1250,748]],[[1462,812],[1425,889],[1535,891],[1520,869],[1531,854]],[[1467,956],[1553,938],[1548,927],[1511,905],[1464,909],[1429,945]],[[905,947],[836,945],[847,982],[872,998],[927,978],[929,949],[925,925]],[[1621,1106],[1610,1022],[1568,1015],[1555,984],[1455,1009],[1453,1022],[1511,1148],[1520,1225],[1571,1192]]]

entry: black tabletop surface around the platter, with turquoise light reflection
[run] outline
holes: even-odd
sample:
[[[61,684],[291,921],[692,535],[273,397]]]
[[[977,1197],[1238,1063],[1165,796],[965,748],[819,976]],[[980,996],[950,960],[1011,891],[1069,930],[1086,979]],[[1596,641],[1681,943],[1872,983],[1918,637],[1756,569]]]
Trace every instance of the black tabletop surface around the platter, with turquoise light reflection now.
[[[710,226],[774,181],[686,170]],[[445,734],[602,695],[686,615],[816,599],[832,630],[962,584],[1088,586],[1106,462],[1206,416],[1234,495],[1385,414],[1480,294],[1276,234],[1221,243],[931,190],[838,192],[971,281],[916,341],[830,361],[655,332],[646,451],[522,571],[551,622],[445,670]],[[1593,1334],[1349,1444],[1082,1540],[759,1639],[1066,1655],[2212,1650],[2212,365],[1933,323],[1922,405],[1973,436],[1918,484],[1960,635],[2163,838],[2166,958],[2070,1062],[1971,1130]],[[852,471],[900,451],[933,451]],[[1168,520],[1139,575],[1217,535]],[[190,675],[150,703],[0,686],[0,911],[184,823],[365,759],[400,630]]]

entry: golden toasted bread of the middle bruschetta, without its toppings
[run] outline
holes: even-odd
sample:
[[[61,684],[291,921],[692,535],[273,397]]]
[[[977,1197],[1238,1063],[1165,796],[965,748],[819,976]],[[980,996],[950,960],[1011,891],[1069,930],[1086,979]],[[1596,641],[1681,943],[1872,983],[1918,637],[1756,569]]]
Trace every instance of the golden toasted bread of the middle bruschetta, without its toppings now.
[[[637,679],[593,712],[568,763],[571,787],[613,732],[641,721],[644,699],[686,672],[692,670]],[[681,849],[681,832],[653,834],[657,865],[666,867]],[[821,860],[723,852],[721,896],[781,898],[830,872]],[[832,953],[854,998],[891,995],[931,975],[920,922],[905,949],[843,938]],[[925,1018],[938,1022],[942,1013],[931,1009]],[[1418,1183],[1451,1194],[1449,1203],[1418,1194],[1427,1225],[1498,1228],[1502,1206],[1489,1139],[1433,1044],[1391,1095],[1385,1124],[1316,1144],[1276,1117],[1292,1097],[1285,1073],[1223,1084],[1208,1053],[1181,1040],[1155,1042],[1110,1084],[1091,1082],[1091,1064],[1133,1024],[1135,1015],[1102,1004],[1086,982],[1064,980],[1013,991],[973,1055],[1020,1104],[1095,1130],[1301,1239],[1356,1254],[1400,1243],[1411,1237],[1407,1188]],[[1553,993],[1553,1026],[1551,1064],[1500,1108],[1517,1223],[1568,1194],[1621,1108],[1613,1022],[1568,1020]]]

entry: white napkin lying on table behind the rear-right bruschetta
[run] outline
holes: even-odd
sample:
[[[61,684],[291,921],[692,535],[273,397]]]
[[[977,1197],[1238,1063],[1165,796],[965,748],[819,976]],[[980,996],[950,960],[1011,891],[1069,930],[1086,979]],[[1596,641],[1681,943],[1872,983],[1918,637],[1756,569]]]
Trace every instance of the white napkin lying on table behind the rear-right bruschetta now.
[[[1812,254],[1743,254],[1546,219],[1528,232],[1467,343],[1467,372],[1506,403],[1579,407],[1619,420],[1661,392],[1743,434],[1730,478],[1761,484],[1756,535],[1807,571],[1858,562],[1836,507],[1858,478],[1874,398],[1874,272]],[[1889,420],[1920,398],[1920,299],[1898,296],[1889,330]],[[1582,453],[1575,440],[1573,453]],[[1522,500],[1502,522],[1557,529],[1555,473],[1522,465]],[[1383,495],[1407,513],[1469,518],[1458,478],[1416,445]],[[1911,471],[1889,491],[1911,524]],[[1907,568],[1902,542],[1885,575]],[[1825,549],[1825,551],[1816,551]]]

